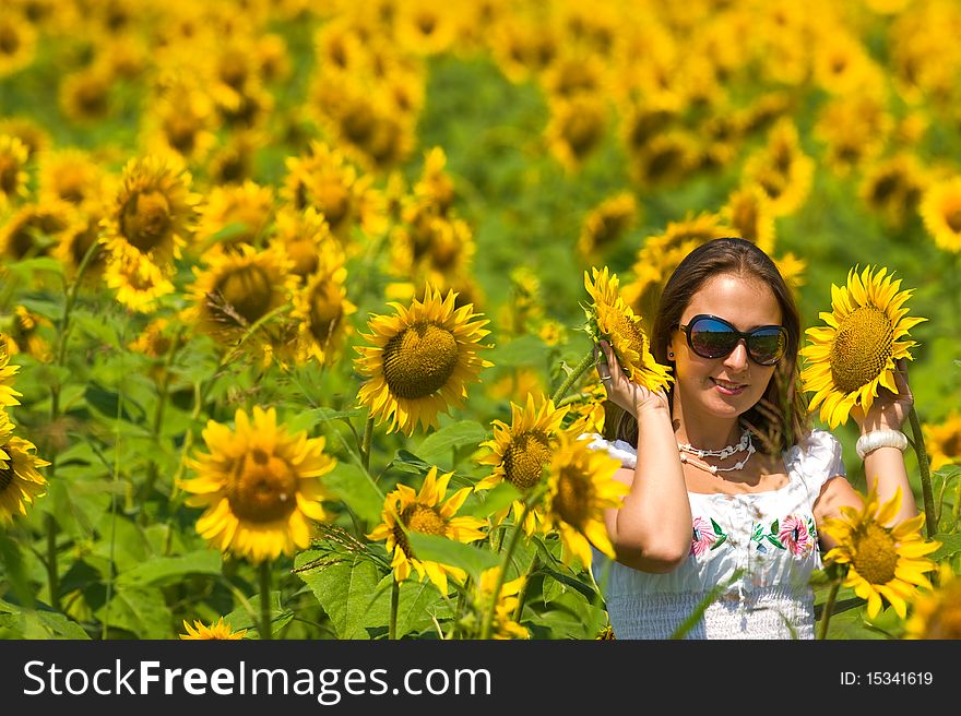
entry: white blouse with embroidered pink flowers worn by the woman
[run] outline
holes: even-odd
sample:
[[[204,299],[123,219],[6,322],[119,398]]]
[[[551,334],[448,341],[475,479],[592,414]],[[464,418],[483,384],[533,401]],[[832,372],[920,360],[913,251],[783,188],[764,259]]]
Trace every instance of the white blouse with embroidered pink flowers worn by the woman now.
[[[622,440],[583,435],[625,467],[637,452]],[[615,639],[814,639],[811,573],[821,568],[812,508],[821,486],[844,476],[841,444],[814,430],[785,451],[787,484],[744,494],[688,492],[693,518],[687,560],[666,574],[641,572],[593,550],[592,572]]]

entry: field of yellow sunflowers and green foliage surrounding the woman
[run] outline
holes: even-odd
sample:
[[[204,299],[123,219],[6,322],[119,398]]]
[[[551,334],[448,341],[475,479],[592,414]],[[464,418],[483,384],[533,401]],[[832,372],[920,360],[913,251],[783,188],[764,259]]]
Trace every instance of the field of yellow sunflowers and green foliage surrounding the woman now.
[[[923,514],[834,527],[820,636],[961,637],[959,36],[954,0],[4,0],[0,635],[616,639],[597,310],[643,356],[739,236],[862,491],[850,413],[910,359]]]

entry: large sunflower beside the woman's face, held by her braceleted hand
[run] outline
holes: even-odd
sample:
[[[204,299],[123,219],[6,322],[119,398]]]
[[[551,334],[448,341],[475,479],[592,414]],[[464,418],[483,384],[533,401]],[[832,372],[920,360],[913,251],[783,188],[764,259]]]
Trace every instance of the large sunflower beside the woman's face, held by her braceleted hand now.
[[[923,318],[906,318],[903,308],[912,289],[899,293],[901,279],[892,281],[887,268],[861,275],[852,268],[845,287],[831,286],[831,312],[820,318],[828,325],[806,331],[810,343],[800,355],[807,365],[800,379],[815,395],[808,406],[821,407],[820,417],[832,429],[847,420],[851,409],[866,413],[880,387],[897,392],[894,361],[913,360],[915,342],[909,331]]]

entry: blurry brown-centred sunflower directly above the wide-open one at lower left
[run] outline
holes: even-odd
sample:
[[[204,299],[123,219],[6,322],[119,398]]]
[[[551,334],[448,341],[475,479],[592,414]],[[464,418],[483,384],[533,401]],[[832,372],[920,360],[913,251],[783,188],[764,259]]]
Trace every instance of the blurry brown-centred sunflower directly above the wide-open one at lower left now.
[[[193,307],[187,317],[222,343],[239,338],[251,325],[284,306],[296,286],[289,260],[276,248],[262,251],[239,243],[235,251],[209,253],[194,267]]]

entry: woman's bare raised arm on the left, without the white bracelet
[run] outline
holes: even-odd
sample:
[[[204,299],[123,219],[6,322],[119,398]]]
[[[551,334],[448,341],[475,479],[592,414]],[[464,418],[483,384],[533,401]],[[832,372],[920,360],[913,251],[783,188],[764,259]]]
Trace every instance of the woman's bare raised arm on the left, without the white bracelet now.
[[[691,512],[667,397],[630,382],[609,344],[602,341],[601,348],[610,370],[608,398],[638,421],[637,467],[616,475],[630,492],[619,509],[605,512],[607,533],[619,562],[669,572],[690,550]]]

